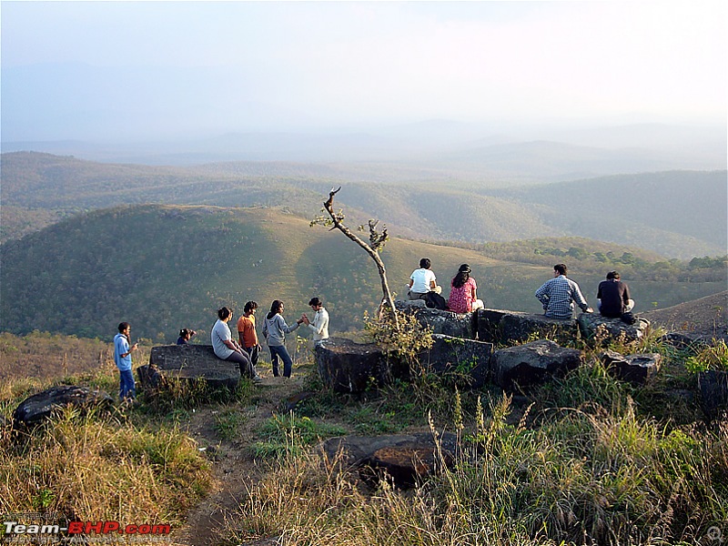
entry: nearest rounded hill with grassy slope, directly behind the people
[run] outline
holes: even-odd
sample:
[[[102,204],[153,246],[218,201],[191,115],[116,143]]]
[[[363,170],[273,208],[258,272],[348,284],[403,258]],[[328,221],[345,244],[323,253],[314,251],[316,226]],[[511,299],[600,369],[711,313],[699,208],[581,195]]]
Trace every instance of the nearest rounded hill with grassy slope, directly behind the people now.
[[[541,252],[561,252],[554,249],[560,241],[529,244]],[[565,250],[590,246],[587,239],[562,243]],[[593,301],[606,271],[617,267],[629,274],[637,269],[628,263],[652,259],[634,248],[604,243],[595,248],[626,261],[595,262],[593,253],[572,250],[567,258],[542,255],[543,264],[523,263],[512,249],[455,248],[400,238],[392,238],[382,256],[391,287],[400,294],[426,256],[445,295],[460,264],[469,263],[479,295],[490,308],[540,312],[533,292],[551,278],[551,262],[566,260],[572,278]],[[489,252],[510,252],[512,258],[491,258]],[[526,253],[533,256],[533,249]],[[308,311],[312,296],[325,301],[332,331],[342,331],[359,329],[364,311],[374,310],[380,298],[376,268],[360,248],[339,232],[309,227],[305,218],[281,208],[113,207],[8,241],[0,246],[0,260],[0,330],[17,334],[38,329],[108,338],[118,322],[127,320],[136,337],[173,342],[179,329],[189,327],[205,340],[223,305],[239,314],[254,299],[262,314],[279,298],[287,302],[287,317],[293,320]],[[677,265],[651,265],[645,270],[661,273],[643,280],[623,275],[639,311],[700,298],[725,286],[722,269],[683,278],[671,267]],[[682,270],[686,267],[683,263]]]

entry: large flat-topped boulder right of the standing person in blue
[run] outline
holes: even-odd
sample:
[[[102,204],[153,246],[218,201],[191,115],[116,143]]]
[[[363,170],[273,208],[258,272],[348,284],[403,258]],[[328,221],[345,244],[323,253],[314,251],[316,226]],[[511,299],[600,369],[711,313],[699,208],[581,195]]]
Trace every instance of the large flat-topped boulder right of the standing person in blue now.
[[[235,362],[218,359],[211,345],[161,345],[149,354],[149,366],[136,369],[142,387],[156,388],[167,379],[204,379],[211,389],[234,390],[240,382]]]

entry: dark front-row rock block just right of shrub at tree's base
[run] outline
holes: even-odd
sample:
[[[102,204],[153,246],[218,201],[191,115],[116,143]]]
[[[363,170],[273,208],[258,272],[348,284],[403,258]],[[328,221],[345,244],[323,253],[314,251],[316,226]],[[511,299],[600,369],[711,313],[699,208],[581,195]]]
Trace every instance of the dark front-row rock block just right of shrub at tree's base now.
[[[437,374],[458,373],[464,387],[479,389],[490,378],[493,344],[435,334],[429,350],[420,353],[420,363]]]

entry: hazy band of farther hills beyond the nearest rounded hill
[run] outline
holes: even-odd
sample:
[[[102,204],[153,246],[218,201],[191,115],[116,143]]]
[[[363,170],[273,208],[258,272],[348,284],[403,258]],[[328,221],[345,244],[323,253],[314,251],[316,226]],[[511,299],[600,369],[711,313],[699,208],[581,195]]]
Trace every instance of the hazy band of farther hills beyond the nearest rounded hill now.
[[[331,187],[343,185],[339,202],[352,224],[377,217],[392,234],[407,238],[485,243],[581,236],[676,258],[725,253],[726,171],[646,173],[511,189],[439,172],[423,165],[416,174],[399,164],[383,164],[376,171],[354,164],[275,162],[144,167],[3,154],[3,207],[13,208],[4,215],[0,240],[22,237],[79,211],[134,203],[288,207],[310,217]],[[399,176],[404,181],[386,183]]]

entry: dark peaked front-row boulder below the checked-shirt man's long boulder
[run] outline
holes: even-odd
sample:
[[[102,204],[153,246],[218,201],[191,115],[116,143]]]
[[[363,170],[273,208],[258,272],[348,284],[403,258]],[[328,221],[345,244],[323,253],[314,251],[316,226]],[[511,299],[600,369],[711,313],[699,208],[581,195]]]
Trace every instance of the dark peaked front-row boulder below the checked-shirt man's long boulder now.
[[[539,384],[578,368],[582,358],[581,350],[564,349],[549,339],[497,350],[490,359],[493,382],[507,390]]]

